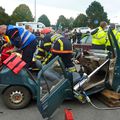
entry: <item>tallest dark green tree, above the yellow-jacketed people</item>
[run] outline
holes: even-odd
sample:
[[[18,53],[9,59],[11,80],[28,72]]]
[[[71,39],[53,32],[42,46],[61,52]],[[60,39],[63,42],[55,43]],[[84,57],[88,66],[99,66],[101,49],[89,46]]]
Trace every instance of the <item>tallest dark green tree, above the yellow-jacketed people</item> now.
[[[99,2],[92,2],[86,10],[88,16],[88,23],[91,28],[98,27],[101,21],[109,22],[107,13]]]

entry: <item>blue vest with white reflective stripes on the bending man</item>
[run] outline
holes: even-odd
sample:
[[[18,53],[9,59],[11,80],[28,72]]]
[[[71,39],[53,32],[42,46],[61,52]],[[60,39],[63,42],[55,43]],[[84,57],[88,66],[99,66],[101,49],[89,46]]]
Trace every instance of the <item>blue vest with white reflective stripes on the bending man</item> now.
[[[6,35],[10,38],[11,43],[17,48],[24,48],[29,45],[36,36],[23,27],[8,25]]]

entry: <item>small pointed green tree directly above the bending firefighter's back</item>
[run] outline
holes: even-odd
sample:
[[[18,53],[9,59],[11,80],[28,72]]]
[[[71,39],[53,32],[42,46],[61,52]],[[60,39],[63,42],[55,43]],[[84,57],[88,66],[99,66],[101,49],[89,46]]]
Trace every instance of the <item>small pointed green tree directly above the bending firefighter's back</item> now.
[[[60,15],[57,20],[57,28],[64,30],[65,28],[68,28],[68,20],[64,17],[64,15]]]

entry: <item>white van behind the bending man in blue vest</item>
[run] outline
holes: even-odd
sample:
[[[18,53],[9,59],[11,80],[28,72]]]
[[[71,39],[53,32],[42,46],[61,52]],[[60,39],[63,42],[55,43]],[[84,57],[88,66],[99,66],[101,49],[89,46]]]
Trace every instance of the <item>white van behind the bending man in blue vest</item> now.
[[[45,28],[45,25],[41,22],[16,22],[16,26],[22,26],[25,28],[26,25],[30,25],[35,31]]]

